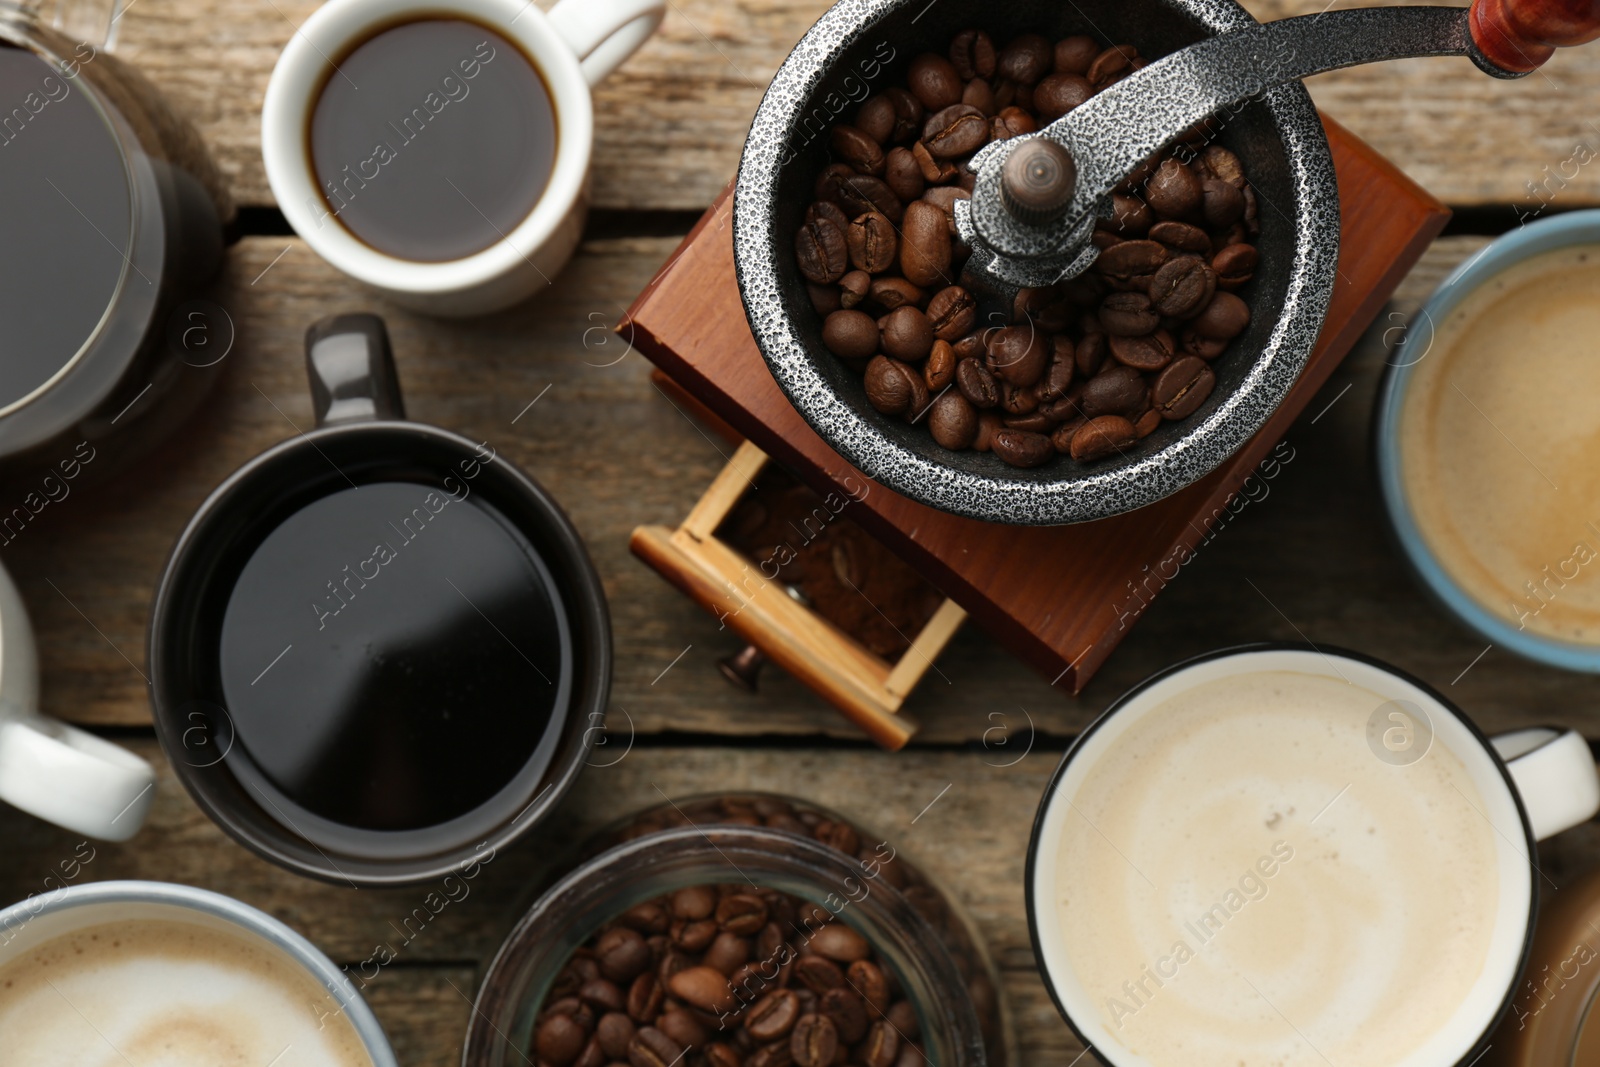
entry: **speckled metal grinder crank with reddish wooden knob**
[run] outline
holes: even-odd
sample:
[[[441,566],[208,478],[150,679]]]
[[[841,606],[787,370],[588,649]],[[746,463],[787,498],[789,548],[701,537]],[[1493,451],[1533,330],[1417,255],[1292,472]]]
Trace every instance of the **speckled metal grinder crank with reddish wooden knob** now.
[[[978,184],[970,202],[957,203],[957,227],[981,272],[1048,285],[1093,262],[1088,238],[1094,218],[1109,213],[1110,192],[1229,104],[1325,70],[1411,56],[1470,56],[1485,72],[1514,78],[1555,45],[1595,37],[1600,0],[1357,8],[1221,34],[1136,70],[1037,134],[986,147],[971,162]]]

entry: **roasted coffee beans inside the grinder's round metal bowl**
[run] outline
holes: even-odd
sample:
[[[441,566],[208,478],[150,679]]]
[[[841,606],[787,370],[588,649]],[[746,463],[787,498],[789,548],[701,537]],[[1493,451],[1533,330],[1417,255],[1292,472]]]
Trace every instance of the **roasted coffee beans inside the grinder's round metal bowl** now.
[[[834,163],[795,235],[822,342],[885,416],[1016,467],[1125,451],[1211,395],[1211,363],[1250,325],[1256,194],[1202,123],[1149,158],[1098,222],[1083,275],[1024,290],[981,322],[960,285],[955,202],[971,157],[1061,118],[1146,59],[1131,45],[965,30],[829,133]]]

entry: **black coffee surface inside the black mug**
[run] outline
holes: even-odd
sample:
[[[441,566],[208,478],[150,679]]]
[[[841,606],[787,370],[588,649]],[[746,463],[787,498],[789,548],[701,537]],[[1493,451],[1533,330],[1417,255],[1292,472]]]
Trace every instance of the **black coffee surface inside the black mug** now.
[[[227,758],[307,835],[493,825],[549,763],[571,688],[565,608],[544,558],[472,490],[464,472],[334,488],[234,581]]]

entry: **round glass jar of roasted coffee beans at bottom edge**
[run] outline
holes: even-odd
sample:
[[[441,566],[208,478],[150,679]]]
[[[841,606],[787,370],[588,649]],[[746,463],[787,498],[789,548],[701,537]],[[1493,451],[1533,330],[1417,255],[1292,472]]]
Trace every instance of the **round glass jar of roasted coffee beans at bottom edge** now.
[[[971,923],[834,813],[680,800],[587,851],[490,966],[466,1067],[1014,1062]]]

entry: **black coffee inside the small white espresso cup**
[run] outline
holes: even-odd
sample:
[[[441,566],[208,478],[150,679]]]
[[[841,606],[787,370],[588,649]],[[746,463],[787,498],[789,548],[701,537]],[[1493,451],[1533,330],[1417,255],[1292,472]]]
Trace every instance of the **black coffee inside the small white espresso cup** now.
[[[328,214],[384,254],[442,262],[533,213],[555,166],[555,104],[517,45],[430,18],[336,56],[307,136]]]

